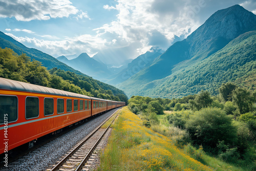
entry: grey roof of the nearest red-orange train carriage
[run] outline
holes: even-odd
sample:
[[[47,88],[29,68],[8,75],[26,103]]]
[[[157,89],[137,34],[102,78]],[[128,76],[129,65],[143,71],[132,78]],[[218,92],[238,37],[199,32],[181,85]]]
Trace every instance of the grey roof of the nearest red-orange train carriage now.
[[[37,86],[35,84],[15,81],[15,80],[6,79],[6,78],[0,78],[0,89],[91,99],[91,97],[86,95],[66,92],[63,90],[57,90],[57,89],[43,87],[43,86]]]

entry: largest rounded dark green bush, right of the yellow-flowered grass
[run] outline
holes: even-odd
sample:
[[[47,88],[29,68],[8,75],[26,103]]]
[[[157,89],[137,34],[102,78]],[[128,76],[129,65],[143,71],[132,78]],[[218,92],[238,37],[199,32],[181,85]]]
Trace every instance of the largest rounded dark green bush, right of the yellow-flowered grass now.
[[[216,148],[218,141],[236,142],[237,130],[231,118],[217,108],[204,108],[190,116],[185,127],[195,144]]]

